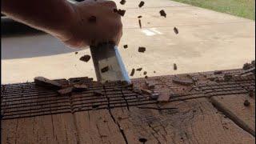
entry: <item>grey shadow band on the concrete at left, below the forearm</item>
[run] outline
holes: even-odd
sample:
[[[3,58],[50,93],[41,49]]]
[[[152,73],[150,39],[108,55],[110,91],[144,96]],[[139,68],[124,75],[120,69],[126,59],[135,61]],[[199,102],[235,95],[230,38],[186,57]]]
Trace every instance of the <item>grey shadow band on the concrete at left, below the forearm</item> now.
[[[70,49],[49,34],[26,34],[1,38],[2,59],[34,58],[74,51],[78,49]]]

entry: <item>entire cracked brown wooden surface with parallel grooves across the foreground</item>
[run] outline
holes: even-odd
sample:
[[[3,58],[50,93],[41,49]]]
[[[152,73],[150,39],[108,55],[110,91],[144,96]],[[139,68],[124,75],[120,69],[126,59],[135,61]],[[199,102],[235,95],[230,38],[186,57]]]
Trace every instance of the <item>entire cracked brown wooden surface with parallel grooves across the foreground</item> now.
[[[2,88],[1,142],[255,142],[255,100],[246,94],[254,87],[254,78],[211,82],[207,74],[179,74],[179,78],[199,79],[194,86],[182,86],[172,82],[175,77],[147,79],[154,82],[154,94],[170,95],[166,103],[150,100],[148,94],[123,90],[120,83],[102,86],[87,82],[88,78],[73,80],[87,82],[89,90],[67,96],[33,83],[8,85]],[[136,88],[146,86],[143,78],[133,80],[133,84]],[[94,90],[102,94],[95,95]],[[250,106],[243,105],[245,100]]]

